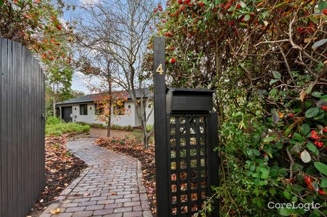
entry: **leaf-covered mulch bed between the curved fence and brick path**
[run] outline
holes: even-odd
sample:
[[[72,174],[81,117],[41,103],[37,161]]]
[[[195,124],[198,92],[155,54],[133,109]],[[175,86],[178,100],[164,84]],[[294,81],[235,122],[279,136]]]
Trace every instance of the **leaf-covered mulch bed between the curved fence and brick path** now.
[[[42,214],[87,165],[65,147],[67,136],[45,138],[45,191],[33,205],[30,216]]]

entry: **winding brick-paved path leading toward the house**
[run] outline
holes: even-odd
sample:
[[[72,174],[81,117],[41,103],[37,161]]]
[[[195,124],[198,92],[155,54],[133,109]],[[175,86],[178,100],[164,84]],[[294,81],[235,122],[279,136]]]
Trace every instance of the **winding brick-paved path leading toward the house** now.
[[[152,217],[140,162],[96,146],[88,138],[68,141],[67,148],[88,168],[40,217]],[[57,208],[60,213],[50,213]]]

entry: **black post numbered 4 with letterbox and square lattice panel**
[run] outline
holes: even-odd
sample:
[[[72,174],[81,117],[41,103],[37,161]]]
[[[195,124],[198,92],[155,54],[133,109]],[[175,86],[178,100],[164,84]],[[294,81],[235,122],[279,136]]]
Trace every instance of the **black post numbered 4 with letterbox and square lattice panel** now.
[[[166,89],[164,37],[154,37],[158,217],[191,217],[218,185],[218,119],[208,89]],[[207,216],[218,217],[218,202]]]

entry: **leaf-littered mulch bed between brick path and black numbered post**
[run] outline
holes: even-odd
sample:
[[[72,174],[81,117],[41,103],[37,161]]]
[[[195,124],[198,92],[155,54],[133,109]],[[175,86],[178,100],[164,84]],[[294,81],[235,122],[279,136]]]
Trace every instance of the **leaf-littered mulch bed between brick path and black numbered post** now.
[[[135,139],[122,139],[119,137],[100,138],[96,139],[95,143],[98,146],[113,150],[115,153],[122,153],[134,157],[141,162],[144,185],[147,189],[147,198],[149,199],[153,216],[157,216],[154,146],[150,145],[150,148],[145,149]]]

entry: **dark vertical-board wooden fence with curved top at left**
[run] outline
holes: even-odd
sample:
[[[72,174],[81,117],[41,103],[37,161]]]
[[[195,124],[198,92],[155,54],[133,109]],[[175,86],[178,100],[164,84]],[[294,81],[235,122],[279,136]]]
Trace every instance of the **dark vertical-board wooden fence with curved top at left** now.
[[[0,216],[22,217],[45,187],[45,75],[21,44],[0,53]]]

